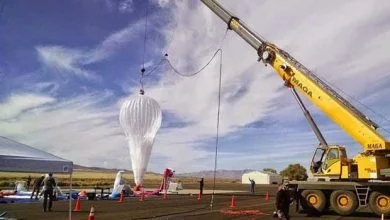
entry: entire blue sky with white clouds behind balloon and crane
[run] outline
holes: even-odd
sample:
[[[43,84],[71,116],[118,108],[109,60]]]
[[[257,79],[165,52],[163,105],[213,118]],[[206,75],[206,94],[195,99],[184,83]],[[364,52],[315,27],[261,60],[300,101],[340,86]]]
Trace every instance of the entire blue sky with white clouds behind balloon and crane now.
[[[139,89],[146,5],[147,70],[167,52],[177,69],[193,72],[212,56],[226,28],[198,1],[2,4],[0,135],[87,166],[131,168],[118,114],[123,99]],[[390,118],[389,2],[222,4],[332,86]],[[236,34],[229,32],[222,45],[218,168],[307,166],[318,141],[282,80],[258,64],[256,52]],[[163,110],[148,169],[211,170],[218,62],[194,77],[161,68],[145,78],[145,89]],[[351,156],[362,150],[306,103],[329,143],[346,145]],[[390,130],[389,121],[352,103]]]

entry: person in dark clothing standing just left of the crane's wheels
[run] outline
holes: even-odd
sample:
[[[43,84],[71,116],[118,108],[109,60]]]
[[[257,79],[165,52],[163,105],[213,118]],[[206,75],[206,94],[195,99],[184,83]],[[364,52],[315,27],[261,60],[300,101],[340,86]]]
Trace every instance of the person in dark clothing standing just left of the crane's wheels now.
[[[276,215],[280,219],[290,219],[290,202],[291,202],[291,197],[290,193],[287,189],[287,184],[281,184],[278,188],[278,192],[276,193],[276,201],[275,201],[275,206],[276,206]]]

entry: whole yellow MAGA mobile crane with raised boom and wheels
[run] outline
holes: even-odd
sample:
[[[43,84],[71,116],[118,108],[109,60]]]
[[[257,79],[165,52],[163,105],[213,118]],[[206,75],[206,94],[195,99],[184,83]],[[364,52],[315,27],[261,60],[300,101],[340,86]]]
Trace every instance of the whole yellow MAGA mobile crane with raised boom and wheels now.
[[[378,125],[295,60],[290,54],[258,36],[216,0],[201,0],[258,54],[258,61],[270,65],[291,89],[320,141],[310,171],[318,181],[291,181],[297,208],[320,213],[329,205],[340,215],[349,215],[369,205],[377,214],[390,215],[390,142]],[[346,131],[364,149],[348,159],[340,145],[329,145],[301,101],[298,90]]]

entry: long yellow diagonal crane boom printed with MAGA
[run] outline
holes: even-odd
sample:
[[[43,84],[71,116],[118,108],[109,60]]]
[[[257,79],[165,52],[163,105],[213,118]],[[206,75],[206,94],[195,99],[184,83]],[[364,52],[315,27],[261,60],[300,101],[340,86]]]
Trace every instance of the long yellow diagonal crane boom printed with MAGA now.
[[[250,30],[215,0],[201,0],[259,55],[272,65],[288,87],[294,87],[343,128],[365,151],[390,150],[390,142],[376,131],[378,125],[339,95],[323,80],[276,45]]]

